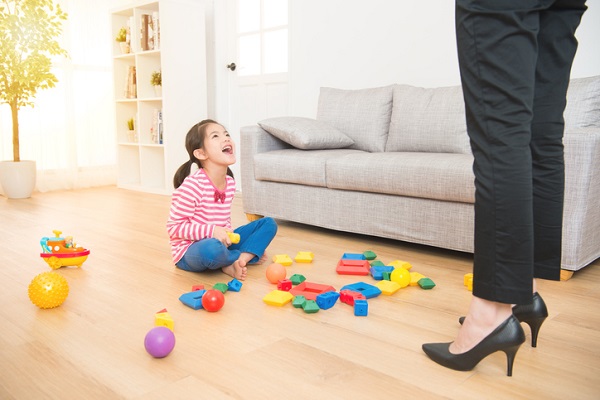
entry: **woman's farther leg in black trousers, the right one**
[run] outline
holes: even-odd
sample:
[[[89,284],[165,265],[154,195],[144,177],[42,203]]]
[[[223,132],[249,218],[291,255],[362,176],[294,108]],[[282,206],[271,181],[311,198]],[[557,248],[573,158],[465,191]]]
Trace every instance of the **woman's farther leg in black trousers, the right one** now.
[[[540,14],[530,146],[536,278],[560,279],[565,179],[563,112],[577,50],[574,33],[585,10],[585,0],[562,0]]]

